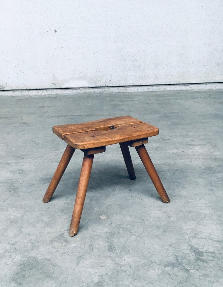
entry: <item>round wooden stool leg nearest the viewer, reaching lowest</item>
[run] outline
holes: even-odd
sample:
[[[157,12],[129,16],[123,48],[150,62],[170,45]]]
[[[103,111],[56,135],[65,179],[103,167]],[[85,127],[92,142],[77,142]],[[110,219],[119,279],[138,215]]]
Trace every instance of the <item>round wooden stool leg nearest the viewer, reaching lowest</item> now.
[[[77,234],[81,214],[84,206],[85,196],[87,193],[87,186],[91,175],[91,168],[93,164],[94,154],[85,154],[81,167],[81,174],[79,184],[77,188],[77,195],[74,204],[74,211],[71,219],[71,225],[69,229],[69,235],[72,237]]]

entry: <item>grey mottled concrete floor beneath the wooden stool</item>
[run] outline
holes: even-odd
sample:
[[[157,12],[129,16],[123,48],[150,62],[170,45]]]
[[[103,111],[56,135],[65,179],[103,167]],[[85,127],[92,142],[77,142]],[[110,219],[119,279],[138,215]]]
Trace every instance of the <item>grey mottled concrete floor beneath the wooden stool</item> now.
[[[222,90],[0,97],[1,286],[222,287]],[[79,232],[70,225],[83,153],[42,203],[66,144],[53,125],[132,115],[160,128],[146,148],[95,155]]]

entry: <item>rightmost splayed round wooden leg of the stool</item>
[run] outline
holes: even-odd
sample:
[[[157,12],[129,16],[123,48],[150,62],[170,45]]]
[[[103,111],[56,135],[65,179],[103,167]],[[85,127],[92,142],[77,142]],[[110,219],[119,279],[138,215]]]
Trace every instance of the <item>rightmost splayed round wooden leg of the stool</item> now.
[[[159,196],[161,197],[162,201],[164,203],[169,203],[170,199],[163,187],[163,184],[159,178],[159,175],[157,174],[157,171],[154,168],[154,165],[148,155],[148,152],[145,148],[145,146],[142,144],[141,146],[135,147],[136,151],[138,152],[138,155],[140,159],[142,160],[142,163],[144,164],[146,171],[148,172],[148,175],[150,176],[150,179],[152,180],[157,192],[159,193]]]

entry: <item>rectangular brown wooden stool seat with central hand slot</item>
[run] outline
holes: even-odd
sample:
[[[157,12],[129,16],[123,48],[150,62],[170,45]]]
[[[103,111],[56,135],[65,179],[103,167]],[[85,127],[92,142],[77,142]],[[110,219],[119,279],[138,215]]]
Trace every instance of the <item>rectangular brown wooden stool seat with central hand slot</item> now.
[[[159,129],[130,116],[58,125],[53,132],[76,149],[108,146],[158,135]]]

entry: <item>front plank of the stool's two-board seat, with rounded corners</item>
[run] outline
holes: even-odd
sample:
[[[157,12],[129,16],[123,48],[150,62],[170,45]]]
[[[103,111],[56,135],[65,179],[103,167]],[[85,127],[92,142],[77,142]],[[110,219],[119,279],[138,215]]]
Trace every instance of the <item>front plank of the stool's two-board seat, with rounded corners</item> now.
[[[96,148],[158,135],[159,129],[147,123],[118,126],[107,131],[87,131],[64,135],[64,141],[76,149]]]

